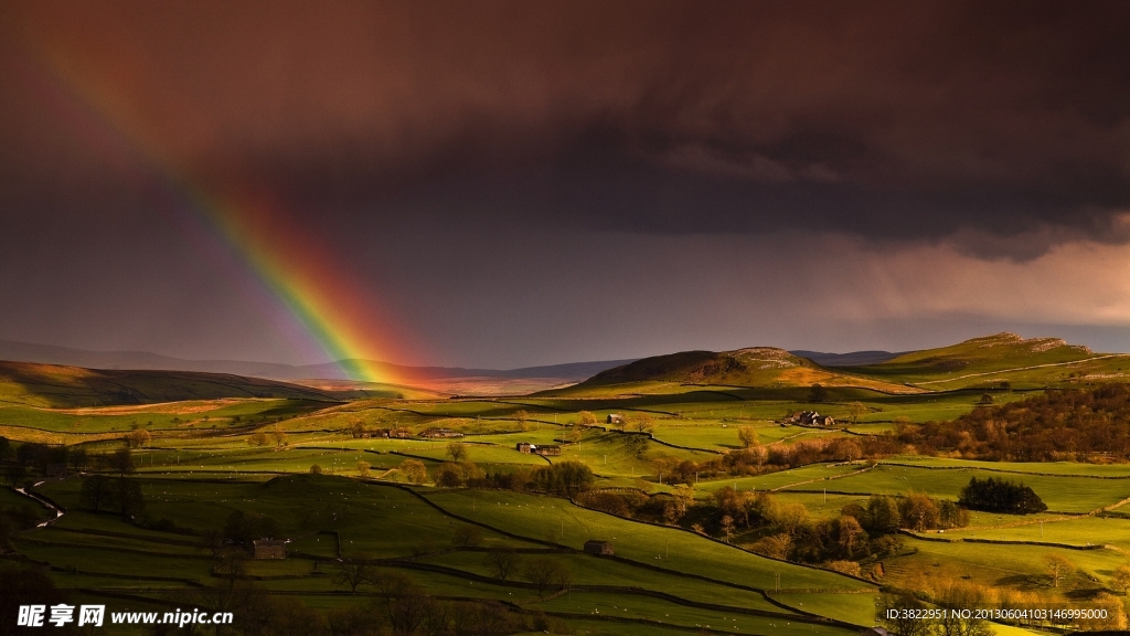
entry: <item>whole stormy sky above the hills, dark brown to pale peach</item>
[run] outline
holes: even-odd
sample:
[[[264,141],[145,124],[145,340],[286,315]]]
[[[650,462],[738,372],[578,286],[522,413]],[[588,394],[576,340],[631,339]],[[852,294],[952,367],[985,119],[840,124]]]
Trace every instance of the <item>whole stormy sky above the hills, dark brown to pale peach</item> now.
[[[1128,32],[1121,1],[0,0],[0,340],[1130,351]]]

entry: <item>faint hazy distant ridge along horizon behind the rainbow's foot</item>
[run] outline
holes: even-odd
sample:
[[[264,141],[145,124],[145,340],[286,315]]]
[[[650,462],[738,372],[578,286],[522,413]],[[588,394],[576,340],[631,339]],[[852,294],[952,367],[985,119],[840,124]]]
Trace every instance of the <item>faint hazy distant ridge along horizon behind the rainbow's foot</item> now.
[[[249,362],[242,360],[185,360],[144,351],[87,351],[67,346],[0,341],[0,360],[62,364],[87,369],[172,370],[236,376],[272,380],[349,379],[334,362],[323,364],[281,364],[277,362]],[[438,380],[451,378],[556,378],[563,383],[581,381],[605,369],[619,367],[633,360],[598,360],[570,362],[520,369],[473,369],[462,367],[409,367],[389,362],[372,362],[390,375],[403,380]],[[346,366],[358,360],[342,360]],[[370,363],[370,362],[366,362]]]

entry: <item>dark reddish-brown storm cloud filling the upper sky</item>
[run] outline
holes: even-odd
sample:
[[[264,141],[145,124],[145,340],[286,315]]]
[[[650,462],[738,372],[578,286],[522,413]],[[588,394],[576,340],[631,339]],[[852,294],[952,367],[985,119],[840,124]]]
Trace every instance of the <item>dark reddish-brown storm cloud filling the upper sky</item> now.
[[[193,171],[322,213],[418,201],[441,222],[801,227],[989,256],[1130,238],[1124,2],[7,12]],[[26,127],[21,108],[0,127]],[[33,170],[23,149],[6,173]]]

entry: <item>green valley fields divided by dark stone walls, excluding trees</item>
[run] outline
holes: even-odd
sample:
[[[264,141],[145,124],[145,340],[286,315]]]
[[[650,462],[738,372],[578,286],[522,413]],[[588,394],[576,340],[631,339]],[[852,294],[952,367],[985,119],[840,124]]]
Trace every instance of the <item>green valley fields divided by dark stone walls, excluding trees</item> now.
[[[770,559],[747,550],[762,531],[739,533],[736,543],[740,545],[727,544],[721,541],[722,532],[710,523],[697,527],[710,535],[705,536],[692,532],[689,521],[683,526],[657,518],[643,523],[562,497],[433,483],[435,469],[452,461],[449,445],[454,444],[480,474],[529,475],[563,462],[581,462],[594,474],[593,488],[634,493],[640,500],[662,505],[677,491],[670,473],[659,471],[679,463],[718,464],[728,453],[740,452],[740,427],[753,427],[759,444],[777,449],[820,447],[838,438],[867,440],[866,436],[884,436],[905,422],[957,418],[972,411],[985,392],[991,392],[994,403],[1014,402],[1032,395],[1024,389],[1070,386],[1085,378],[1080,371],[1118,369],[1124,362],[1121,358],[1096,360],[1097,354],[1070,347],[1026,356],[1020,350],[1035,345],[1006,341],[989,347],[993,350],[990,356],[980,353],[981,345],[963,344],[937,350],[932,359],[904,356],[866,369],[819,370],[801,363],[796,369],[805,373],[815,369],[826,373],[820,377],[840,383],[831,384],[819,403],[809,399],[807,386],[790,384],[793,380],[788,378],[799,377],[796,373],[774,377],[764,386],[719,379],[698,384],[631,380],[530,396],[460,399],[428,397],[423,392],[409,392],[406,398],[318,394],[253,381],[224,393],[210,380],[165,387],[162,383],[173,380],[137,375],[128,377],[133,383],[129,386],[148,390],[155,383],[162,385],[154,395],[176,396],[177,390],[206,395],[128,405],[113,402],[118,394],[105,388],[103,377],[72,378],[70,384],[42,392],[34,383],[21,389],[9,384],[3,395],[14,399],[0,406],[0,435],[17,450],[31,442],[55,445],[50,446],[55,449],[66,444],[68,450],[86,452],[86,464],[79,470],[102,471],[116,479],[97,459],[122,448],[124,436],[138,428],[149,431],[150,438],[132,452],[131,480],[146,502],[144,519],[130,523],[114,512],[95,513],[80,502],[82,478],[72,466],[68,476],[35,488],[64,506],[67,514],[46,527],[17,531],[11,538],[15,553],[0,558],[49,564],[51,578],[75,598],[111,599],[107,602],[113,603],[119,601],[98,594],[125,593],[139,607],[163,607],[169,599],[191,602],[200,598],[201,585],[209,590],[223,584],[212,549],[202,536],[223,530],[228,516],[238,510],[275,519],[278,534],[289,540],[286,560],[249,561],[243,570],[246,584],[319,611],[368,603],[374,598],[371,586],[363,586],[363,594],[353,598],[332,581],[339,557],[376,559],[377,571],[405,574],[437,598],[514,603],[507,605],[519,612],[514,616],[555,613],[577,634],[668,629],[673,634],[680,629],[846,635],[875,622],[881,586],[920,588],[944,581],[1037,591],[1079,602],[1111,591],[1115,569],[1130,565],[1130,539],[1125,539],[1130,515],[1115,508],[1081,516],[1130,498],[1130,463],[892,455],[852,463],[817,461],[789,470],[764,466],[760,474],[749,474],[756,472],[749,470],[723,475],[704,472],[697,481],[688,478],[694,499],[687,519],[706,519],[705,513],[696,510],[709,510],[714,495],[725,488],[773,491],[780,504],[802,506],[815,524],[837,519],[845,506],[864,505],[872,493],[913,491],[956,499],[972,476],[1022,481],[1049,507],[1048,513],[1027,516],[973,512],[965,528],[901,535],[902,544],[893,552],[860,559],[866,579],[836,574],[820,564]],[[1076,376],[1059,378],[1066,369]],[[43,372],[44,377],[62,373]],[[1010,390],[998,386],[1001,377],[1010,378]],[[893,388],[880,390],[876,381]],[[906,383],[916,388],[898,389]],[[255,390],[280,394],[247,395]],[[862,410],[859,422],[847,424],[853,402]],[[800,410],[818,410],[840,422],[809,428],[775,421]],[[597,426],[574,428],[584,411],[594,414]],[[651,424],[642,437],[632,426],[621,432],[606,422],[610,414],[632,419],[642,413]],[[397,428],[409,437],[355,438],[347,427],[357,423],[370,431]],[[463,437],[419,437],[428,428],[453,429]],[[632,440],[644,438],[642,446],[631,448]],[[550,457],[522,454],[515,449],[522,441],[556,444],[563,452]],[[421,462],[427,474],[423,483],[408,487],[402,466],[414,461]],[[359,463],[368,466],[366,474]],[[322,474],[311,474],[315,464]],[[16,473],[12,458],[2,467]],[[25,481],[43,481],[45,463],[32,461],[24,472]],[[40,504],[14,490],[0,490],[0,509],[28,507],[36,523],[50,517]],[[459,544],[457,538],[471,526],[478,528],[475,545]],[[611,542],[615,558],[583,553],[591,539]],[[541,558],[565,567],[571,591],[539,598],[531,575],[521,568],[511,579],[498,579],[486,555],[499,548],[518,550],[522,564]],[[1049,553],[1074,565],[1062,587],[1049,585],[1043,565]],[[879,564],[881,577],[873,574]],[[800,620],[801,612],[842,624]],[[999,634],[1026,633],[1003,625],[996,628]]]

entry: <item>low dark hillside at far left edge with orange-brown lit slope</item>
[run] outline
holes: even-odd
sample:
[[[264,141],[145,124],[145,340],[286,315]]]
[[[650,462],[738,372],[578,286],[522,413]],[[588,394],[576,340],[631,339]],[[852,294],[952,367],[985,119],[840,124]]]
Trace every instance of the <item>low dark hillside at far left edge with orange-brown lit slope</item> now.
[[[76,407],[154,404],[221,397],[331,401],[298,385],[190,371],[121,371],[0,361],[0,403]]]

